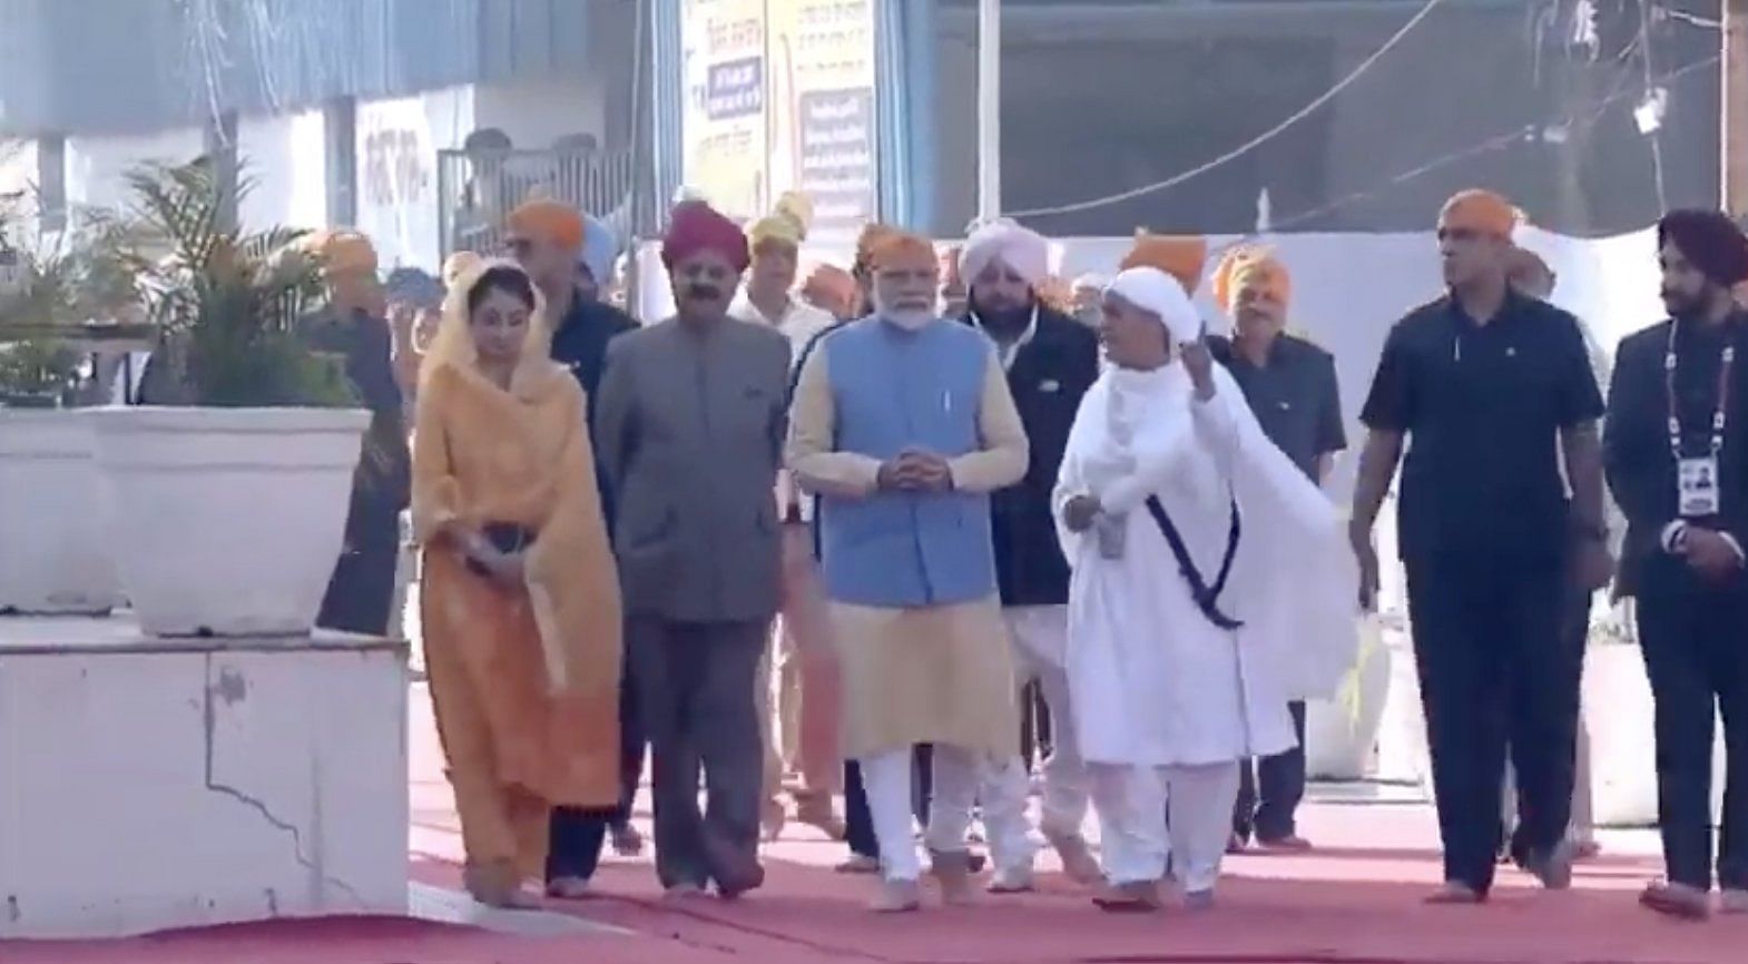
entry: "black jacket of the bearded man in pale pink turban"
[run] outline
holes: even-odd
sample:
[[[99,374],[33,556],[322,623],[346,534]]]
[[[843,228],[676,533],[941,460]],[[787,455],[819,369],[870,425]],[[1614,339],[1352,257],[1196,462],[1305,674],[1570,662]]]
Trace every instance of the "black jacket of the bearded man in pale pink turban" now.
[[[1068,430],[1094,381],[1098,335],[1092,328],[1038,307],[1038,328],[1007,370],[1007,386],[1030,442],[1030,465],[1024,479],[989,498],[1003,606],[1068,602],[1068,562],[1056,541],[1051,494],[1068,449]]]

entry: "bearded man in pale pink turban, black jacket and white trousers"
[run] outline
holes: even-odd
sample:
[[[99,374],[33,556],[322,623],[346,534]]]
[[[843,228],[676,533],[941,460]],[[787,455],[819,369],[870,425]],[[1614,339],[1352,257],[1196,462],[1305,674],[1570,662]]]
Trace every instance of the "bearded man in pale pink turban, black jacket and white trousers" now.
[[[1051,754],[1044,763],[1044,812],[1038,830],[1061,854],[1068,875],[1098,880],[1080,824],[1089,786],[1068,706],[1068,562],[1056,540],[1051,492],[1068,445],[1080,396],[1098,379],[1098,335],[1038,300],[1049,269],[1049,243],[1012,222],[979,227],[965,241],[960,272],[970,285],[965,323],[995,344],[1007,386],[1030,442],[1026,475],[989,496],[996,585],[1017,669],[1016,683],[1038,685],[1051,720]],[[982,816],[995,877],[989,891],[1033,887],[1031,821],[1026,802],[1031,770],[1024,756],[984,781]]]

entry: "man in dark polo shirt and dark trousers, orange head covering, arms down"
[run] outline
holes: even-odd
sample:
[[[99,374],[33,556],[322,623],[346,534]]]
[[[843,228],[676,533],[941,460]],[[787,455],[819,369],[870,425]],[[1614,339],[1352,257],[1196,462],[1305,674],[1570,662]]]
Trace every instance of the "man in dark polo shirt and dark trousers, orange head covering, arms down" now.
[[[1578,321],[1510,288],[1516,225],[1493,192],[1446,203],[1449,293],[1391,328],[1360,416],[1349,540],[1367,606],[1372,524],[1412,438],[1398,533],[1444,840],[1432,903],[1481,903],[1493,887],[1507,739],[1524,802],[1514,856],[1543,885],[1570,885],[1577,693],[1561,613],[1568,580],[1598,589],[1613,571],[1601,393]]]

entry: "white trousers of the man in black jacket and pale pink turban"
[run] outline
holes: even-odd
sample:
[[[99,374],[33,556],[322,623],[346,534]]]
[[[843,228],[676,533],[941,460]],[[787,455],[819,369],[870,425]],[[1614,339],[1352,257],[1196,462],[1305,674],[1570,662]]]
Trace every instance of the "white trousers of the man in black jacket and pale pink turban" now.
[[[1002,609],[1002,616],[1014,650],[1016,679],[1023,690],[1030,679],[1037,679],[1044,706],[1051,709],[1051,756],[1044,761],[1040,826],[1052,837],[1080,837],[1091,777],[1080,760],[1075,716],[1068,702],[1068,672],[1063,669],[1068,606],[1010,606]],[[1026,761],[1014,756],[1003,765],[991,765],[979,796],[995,866],[1030,866],[1037,844],[1026,816],[1026,802],[1031,798],[1031,770]]]

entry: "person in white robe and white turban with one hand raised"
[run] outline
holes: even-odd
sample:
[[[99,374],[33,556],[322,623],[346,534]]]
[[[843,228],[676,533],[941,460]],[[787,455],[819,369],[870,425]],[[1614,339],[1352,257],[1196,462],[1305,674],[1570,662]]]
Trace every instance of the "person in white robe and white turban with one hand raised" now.
[[[1157,908],[1168,856],[1185,903],[1204,906],[1238,761],[1290,747],[1288,700],[1332,695],[1355,660],[1358,575],[1335,506],[1211,363],[1180,281],[1119,274],[1099,337],[1108,365],[1054,499],[1099,906]]]

